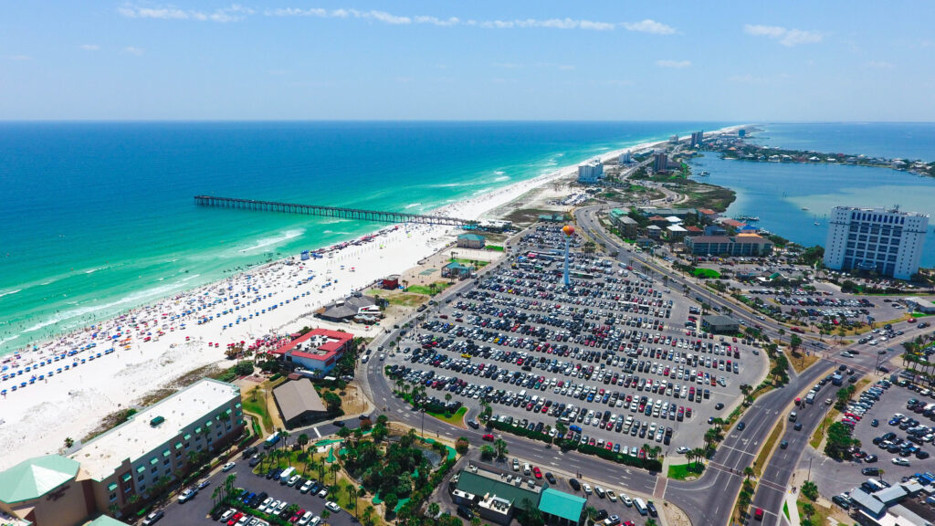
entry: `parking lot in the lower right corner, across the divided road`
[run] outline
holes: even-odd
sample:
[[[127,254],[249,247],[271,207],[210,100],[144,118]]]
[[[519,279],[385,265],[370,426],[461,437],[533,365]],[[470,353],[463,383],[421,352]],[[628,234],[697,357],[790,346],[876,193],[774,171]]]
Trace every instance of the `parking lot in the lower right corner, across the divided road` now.
[[[870,392],[870,389],[865,392]],[[923,456],[935,450],[932,446],[932,432],[933,428],[935,428],[935,420],[931,416],[925,416],[923,413],[915,413],[913,410],[907,409],[906,404],[911,399],[925,403],[935,403],[935,399],[931,398],[930,394],[923,396],[918,392],[896,385],[876,392],[882,392],[879,397],[880,400],[873,401],[870,398],[868,404],[869,402],[873,402],[873,404],[863,415],[852,413],[854,416],[842,416],[856,422],[853,436],[860,441],[861,451],[867,455],[874,455],[876,458],[871,458],[871,461],[855,459],[853,461],[838,462],[828,459],[821,453],[814,455],[811,470],[812,477],[821,493],[828,498],[859,487],[868,478],[878,480],[882,478],[889,484],[894,484],[902,480],[903,477],[932,471],[932,466],[935,465],[935,462],[930,458],[919,459],[916,456],[917,453],[908,448],[903,449],[903,446],[907,445],[917,447],[925,452],[922,454]],[[827,396],[833,394],[833,391],[828,391]],[[895,415],[904,416],[905,419],[899,422],[894,421],[893,416]],[[856,420],[856,416],[859,416],[860,419]],[[913,423],[911,419],[916,420],[917,423]],[[873,426],[873,420],[876,420],[876,426]],[[890,424],[891,421],[893,421],[893,425]],[[910,432],[915,434],[911,435]],[[895,436],[887,439],[888,445],[884,448],[884,441],[875,439],[883,437],[886,433],[893,433]],[[910,436],[913,436],[913,442],[908,440]],[[879,444],[874,444],[874,442]],[[892,460],[895,458],[904,458],[909,461],[909,465],[894,464]],[[806,463],[808,462],[808,459],[804,460]],[[861,470],[865,468],[877,468],[883,471],[883,475],[864,475]]]

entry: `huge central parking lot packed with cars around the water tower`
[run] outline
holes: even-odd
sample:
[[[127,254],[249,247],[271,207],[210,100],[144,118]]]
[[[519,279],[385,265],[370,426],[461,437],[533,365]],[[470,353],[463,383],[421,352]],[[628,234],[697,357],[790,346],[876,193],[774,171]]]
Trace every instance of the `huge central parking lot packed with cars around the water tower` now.
[[[562,419],[576,441],[632,454],[700,446],[708,418],[759,382],[765,353],[698,330],[698,303],[610,259],[572,251],[566,289],[563,245],[558,226],[538,226],[382,365],[435,402],[488,402],[530,429]]]

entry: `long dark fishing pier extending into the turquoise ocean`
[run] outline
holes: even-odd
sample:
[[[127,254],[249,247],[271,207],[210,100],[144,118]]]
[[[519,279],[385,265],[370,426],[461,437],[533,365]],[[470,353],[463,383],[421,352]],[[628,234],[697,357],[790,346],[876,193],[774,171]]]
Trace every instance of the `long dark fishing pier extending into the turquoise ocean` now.
[[[352,208],[326,207],[320,205],[281,203],[277,201],[259,201],[255,199],[237,199],[234,197],[195,196],[194,202],[195,204],[201,206],[256,210],[263,212],[304,213],[307,215],[339,217],[342,219],[355,219],[358,221],[371,221],[375,223],[416,223],[421,225],[466,227],[477,225],[476,221],[468,221],[467,219],[445,217],[440,215],[359,210]]]

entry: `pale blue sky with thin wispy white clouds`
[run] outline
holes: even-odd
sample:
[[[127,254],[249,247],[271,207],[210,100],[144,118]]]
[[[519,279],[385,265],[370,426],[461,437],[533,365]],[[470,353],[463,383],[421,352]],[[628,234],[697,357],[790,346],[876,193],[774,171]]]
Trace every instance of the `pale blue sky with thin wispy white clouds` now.
[[[935,121],[935,2],[5,2],[0,120]]]

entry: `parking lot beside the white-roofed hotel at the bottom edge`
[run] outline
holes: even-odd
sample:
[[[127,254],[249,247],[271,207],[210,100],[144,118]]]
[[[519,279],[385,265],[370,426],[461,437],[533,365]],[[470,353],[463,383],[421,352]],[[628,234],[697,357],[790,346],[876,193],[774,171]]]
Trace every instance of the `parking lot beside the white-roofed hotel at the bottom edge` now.
[[[269,498],[272,498],[274,501],[286,502],[286,506],[282,506],[282,509],[288,506],[288,504],[297,504],[301,510],[309,511],[314,517],[321,517],[322,511],[324,510],[324,504],[328,501],[327,498],[319,497],[314,493],[302,493],[299,491],[302,484],[301,482],[296,483],[294,487],[289,487],[283,484],[280,484],[279,481],[273,479],[267,479],[266,476],[262,475],[253,475],[250,471],[250,468],[247,467],[246,461],[238,460],[237,467],[230,471],[229,473],[217,473],[209,477],[209,486],[205,489],[202,489],[198,494],[187,503],[180,503],[178,500],[173,501],[171,504],[165,506],[165,518],[160,521],[162,524],[172,524],[178,526],[204,526],[208,524],[226,524],[227,520],[220,521],[218,519],[212,519],[209,514],[211,511],[211,493],[218,486],[223,486],[224,479],[227,475],[237,475],[237,480],[235,486],[237,488],[247,489],[248,496],[250,493],[261,494],[266,492]],[[238,492],[239,493],[239,492]],[[238,494],[237,493],[237,494]],[[262,501],[259,503],[262,504]],[[244,511],[248,508],[247,505],[237,506],[237,511]],[[353,517],[346,510],[341,510],[338,512],[330,512],[331,517],[327,520],[328,524],[332,526],[351,526]],[[282,514],[281,514],[282,515]],[[300,514],[301,517],[302,514]],[[299,520],[296,520],[296,523]],[[247,520],[244,524],[250,524],[250,521]],[[257,522],[254,526],[259,526],[259,524],[265,524],[265,522]],[[307,524],[314,524],[312,518],[309,518]]]

